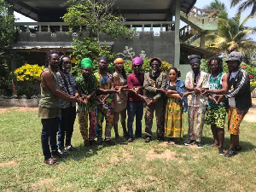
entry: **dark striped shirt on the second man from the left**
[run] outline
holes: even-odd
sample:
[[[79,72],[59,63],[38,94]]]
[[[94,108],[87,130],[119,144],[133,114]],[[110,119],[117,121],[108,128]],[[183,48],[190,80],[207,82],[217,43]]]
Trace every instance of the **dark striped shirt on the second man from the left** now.
[[[73,87],[75,87],[77,84],[73,79],[73,75],[71,73],[63,73],[64,78],[66,79],[67,84],[65,83],[65,80],[62,78],[61,73],[56,73],[57,77],[59,79],[60,87],[62,87],[62,91],[67,93],[67,95],[74,96],[74,90]],[[61,99],[61,108],[69,108],[69,107],[75,107],[75,102],[68,102],[67,100]]]

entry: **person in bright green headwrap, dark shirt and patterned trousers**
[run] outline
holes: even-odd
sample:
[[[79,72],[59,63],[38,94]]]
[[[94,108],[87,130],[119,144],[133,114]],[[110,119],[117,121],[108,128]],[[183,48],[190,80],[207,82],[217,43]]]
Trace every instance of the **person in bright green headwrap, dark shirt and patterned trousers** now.
[[[77,82],[77,89],[79,96],[84,102],[79,103],[79,129],[84,140],[84,146],[89,146],[95,143],[95,129],[96,129],[96,101],[93,96],[98,90],[97,80],[92,75],[92,61],[90,58],[84,58],[81,61],[82,74],[75,80]],[[90,119],[89,137],[88,137],[88,116]]]

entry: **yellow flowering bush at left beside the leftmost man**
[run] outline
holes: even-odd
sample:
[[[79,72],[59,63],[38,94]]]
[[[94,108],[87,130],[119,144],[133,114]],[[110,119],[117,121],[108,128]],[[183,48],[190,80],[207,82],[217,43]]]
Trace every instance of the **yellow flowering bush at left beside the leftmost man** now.
[[[15,76],[18,81],[26,82],[38,82],[40,81],[40,75],[44,69],[43,67],[36,65],[25,64],[24,66],[15,70]]]

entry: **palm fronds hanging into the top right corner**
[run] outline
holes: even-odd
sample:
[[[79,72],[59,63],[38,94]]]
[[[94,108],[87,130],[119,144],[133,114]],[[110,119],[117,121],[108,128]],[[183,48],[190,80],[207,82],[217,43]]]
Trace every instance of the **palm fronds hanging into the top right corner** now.
[[[231,0],[230,7],[233,8],[239,3],[241,4],[238,7],[238,12],[244,11],[245,9],[252,7],[249,16],[253,16],[256,14],[256,0]]]

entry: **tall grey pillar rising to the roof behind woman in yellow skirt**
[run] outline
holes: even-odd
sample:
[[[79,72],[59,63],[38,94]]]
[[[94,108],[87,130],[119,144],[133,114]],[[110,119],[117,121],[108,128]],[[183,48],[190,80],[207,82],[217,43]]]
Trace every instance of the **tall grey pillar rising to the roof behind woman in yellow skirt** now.
[[[176,0],[175,1],[174,67],[177,67],[177,68],[179,68],[179,57],[180,57],[179,26],[180,26],[180,0]]]

